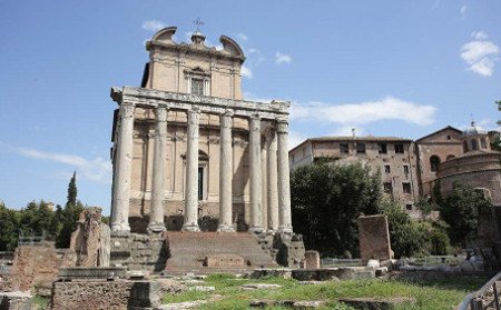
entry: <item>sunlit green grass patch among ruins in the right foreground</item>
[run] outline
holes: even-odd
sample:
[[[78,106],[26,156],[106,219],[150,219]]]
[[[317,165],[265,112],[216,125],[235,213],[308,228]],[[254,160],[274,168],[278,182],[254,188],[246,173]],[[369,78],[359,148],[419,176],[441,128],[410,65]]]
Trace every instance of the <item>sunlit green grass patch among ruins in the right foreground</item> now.
[[[323,309],[351,310],[345,304],[337,303],[338,298],[377,298],[412,297],[415,304],[403,304],[396,310],[450,310],[458,306],[466,293],[478,290],[488,279],[451,278],[438,281],[405,282],[396,280],[351,280],[326,281],[321,284],[299,284],[293,279],[266,277],[262,279],[237,279],[232,274],[210,274],[205,286],[216,288],[215,292],[185,291],[178,294],[166,296],[164,302],[181,302],[193,300],[207,300],[214,294],[220,299],[209,301],[200,309],[249,309],[252,300],[326,300],[330,303]],[[246,283],[274,283],[278,289],[243,290]],[[268,309],[286,309],[274,307]],[[322,309],[322,308],[321,308]]]

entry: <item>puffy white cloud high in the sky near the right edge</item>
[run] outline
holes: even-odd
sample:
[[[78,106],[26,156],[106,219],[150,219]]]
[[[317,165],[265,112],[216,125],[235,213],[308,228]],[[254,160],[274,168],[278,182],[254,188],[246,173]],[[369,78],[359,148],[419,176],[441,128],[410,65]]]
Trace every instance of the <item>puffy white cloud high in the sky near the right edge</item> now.
[[[483,31],[475,31],[471,36],[473,41],[461,47],[461,58],[466,62],[470,71],[490,77],[498,61],[499,47],[492,41],[487,41],[488,36]]]

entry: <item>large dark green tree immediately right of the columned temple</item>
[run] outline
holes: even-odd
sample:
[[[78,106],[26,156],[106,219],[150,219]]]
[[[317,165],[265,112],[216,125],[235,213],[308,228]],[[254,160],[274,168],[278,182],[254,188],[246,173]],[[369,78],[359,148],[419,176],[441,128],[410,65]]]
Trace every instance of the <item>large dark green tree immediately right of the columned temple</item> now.
[[[357,253],[362,213],[376,213],[381,176],[361,163],[321,162],[291,174],[293,224],[305,246],[328,256]]]

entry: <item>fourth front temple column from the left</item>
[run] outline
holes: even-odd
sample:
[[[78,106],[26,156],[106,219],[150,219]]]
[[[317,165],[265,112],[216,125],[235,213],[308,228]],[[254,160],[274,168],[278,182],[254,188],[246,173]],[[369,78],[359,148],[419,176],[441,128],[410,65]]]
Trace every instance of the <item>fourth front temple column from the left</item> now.
[[[235,231],[232,224],[233,206],[233,154],[232,117],[227,110],[220,116],[220,156],[219,156],[219,226],[217,231]]]

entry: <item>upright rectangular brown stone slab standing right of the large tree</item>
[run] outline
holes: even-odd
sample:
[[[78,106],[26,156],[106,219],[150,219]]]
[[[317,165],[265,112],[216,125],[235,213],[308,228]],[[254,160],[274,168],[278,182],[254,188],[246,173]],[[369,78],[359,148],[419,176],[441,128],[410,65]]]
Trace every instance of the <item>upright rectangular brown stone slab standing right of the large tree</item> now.
[[[370,259],[391,259],[386,216],[360,217],[357,223],[362,263],[366,263]]]

